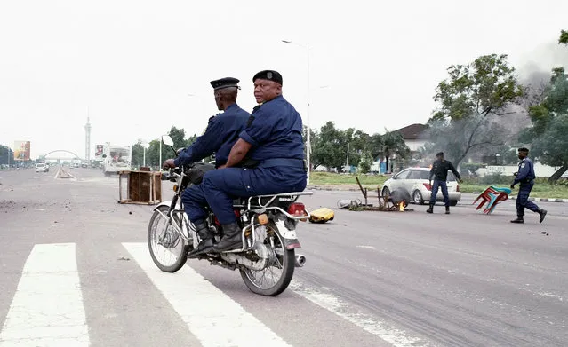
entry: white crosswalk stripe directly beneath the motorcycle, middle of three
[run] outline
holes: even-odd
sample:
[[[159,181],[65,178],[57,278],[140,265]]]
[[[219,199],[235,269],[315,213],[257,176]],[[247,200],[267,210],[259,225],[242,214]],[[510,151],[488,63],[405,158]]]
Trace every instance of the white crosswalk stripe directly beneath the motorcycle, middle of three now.
[[[145,243],[123,243],[204,347],[290,346],[188,265],[161,272]]]

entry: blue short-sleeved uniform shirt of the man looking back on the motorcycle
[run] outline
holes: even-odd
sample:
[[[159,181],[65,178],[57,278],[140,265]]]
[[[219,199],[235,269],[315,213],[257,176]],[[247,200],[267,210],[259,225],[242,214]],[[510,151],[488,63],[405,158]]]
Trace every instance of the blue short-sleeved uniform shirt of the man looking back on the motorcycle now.
[[[257,106],[240,137],[252,145],[251,159],[304,159],[300,114],[282,95]]]

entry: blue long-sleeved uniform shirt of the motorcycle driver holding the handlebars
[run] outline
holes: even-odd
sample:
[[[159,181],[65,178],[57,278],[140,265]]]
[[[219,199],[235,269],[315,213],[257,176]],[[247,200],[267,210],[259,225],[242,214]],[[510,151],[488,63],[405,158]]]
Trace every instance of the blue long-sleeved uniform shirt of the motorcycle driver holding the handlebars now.
[[[228,106],[225,112],[212,117],[204,134],[180,153],[174,161],[175,165],[199,162],[213,153],[215,153],[215,166],[225,164],[249,116],[248,112],[236,104]]]

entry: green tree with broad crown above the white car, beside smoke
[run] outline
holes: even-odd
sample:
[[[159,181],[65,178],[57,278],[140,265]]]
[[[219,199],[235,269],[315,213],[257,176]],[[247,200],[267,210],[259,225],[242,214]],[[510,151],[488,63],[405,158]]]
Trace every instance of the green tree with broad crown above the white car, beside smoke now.
[[[448,74],[436,87],[434,99],[440,106],[428,125],[433,142],[444,152],[453,152],[458,166],[472,150],[502,144],[503,128],[494,127],[492,118],[512,113],[508,107],[519,102],[524,89],[515,69],[508,66],[507,55],[484,55],[468,65],[452,65]]]

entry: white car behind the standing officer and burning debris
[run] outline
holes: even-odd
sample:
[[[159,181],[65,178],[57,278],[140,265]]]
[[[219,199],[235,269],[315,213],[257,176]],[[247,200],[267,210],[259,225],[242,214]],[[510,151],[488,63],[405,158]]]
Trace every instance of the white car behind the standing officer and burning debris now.
[[[432,195],[432,187],[429,185],[430,169],[428,168],[408,168],[398,172],[395,176],[390,177],[382,186],[382,194],[387,195],[397,189],[403,189],[410,194],[411,200],[417,204],[423,204],[430,200]],[[434,183],[434,182],[432,182]],[[461,200],[460,185],[453,176],[452,171],[448,172],[448,197],[450,205],[457,205]],[[438,189],[436,201],[444,201],[442,189]]]

